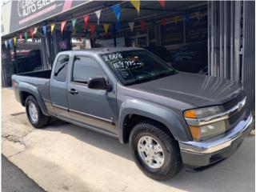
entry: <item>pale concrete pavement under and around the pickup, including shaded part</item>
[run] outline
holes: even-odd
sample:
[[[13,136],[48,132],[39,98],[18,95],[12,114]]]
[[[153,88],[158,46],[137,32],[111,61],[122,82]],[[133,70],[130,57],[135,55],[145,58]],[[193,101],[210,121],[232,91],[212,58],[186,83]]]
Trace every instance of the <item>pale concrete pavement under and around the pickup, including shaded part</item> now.
[[[146,178],[128,145],[66,122],[36,130],[12,90],[2,89],[2,154],[46,191],[254,191],[255,137],[230,158],[166,182]]]

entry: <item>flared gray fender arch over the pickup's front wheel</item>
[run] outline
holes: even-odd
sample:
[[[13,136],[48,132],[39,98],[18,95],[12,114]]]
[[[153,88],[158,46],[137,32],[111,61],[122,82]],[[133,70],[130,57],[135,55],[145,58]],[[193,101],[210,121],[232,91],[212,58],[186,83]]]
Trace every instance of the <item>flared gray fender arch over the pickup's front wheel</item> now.
[[[188,140],[186,128],[173,111],[149,102],[130,100],[123,102],[120,108],[118,122],[120,142],[128,142],[127,138],[129,138],[130,131],[133,129],[134,125],[145,119],[161,123],[163,127],[166,127],[165,131],[172,134],[175,140]]]

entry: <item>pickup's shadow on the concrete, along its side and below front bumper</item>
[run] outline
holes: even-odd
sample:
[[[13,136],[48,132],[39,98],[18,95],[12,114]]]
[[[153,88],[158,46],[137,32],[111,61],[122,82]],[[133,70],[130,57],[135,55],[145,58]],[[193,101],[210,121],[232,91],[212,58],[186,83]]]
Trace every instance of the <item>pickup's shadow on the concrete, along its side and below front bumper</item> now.
[[[118,139],[57,121],[45,129],[59,131],[92,146],[117,154],[133,161],[129,146],[122,145]],[[230,158],[210,166],[202,171],[183,169],[174,178],[160,182],[180,190],[187,191],[254,191],[254,137],[248,137]]]

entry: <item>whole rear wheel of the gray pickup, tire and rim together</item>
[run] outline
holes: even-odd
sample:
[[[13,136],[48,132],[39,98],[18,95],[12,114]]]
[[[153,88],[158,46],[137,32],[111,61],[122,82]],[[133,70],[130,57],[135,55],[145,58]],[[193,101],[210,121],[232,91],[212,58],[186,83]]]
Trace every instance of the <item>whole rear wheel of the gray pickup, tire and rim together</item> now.
[[[37,100],[31,95],[26,98],[26,116],[35,128],[42,128],[50,122],[50,117],[42,113]]]

